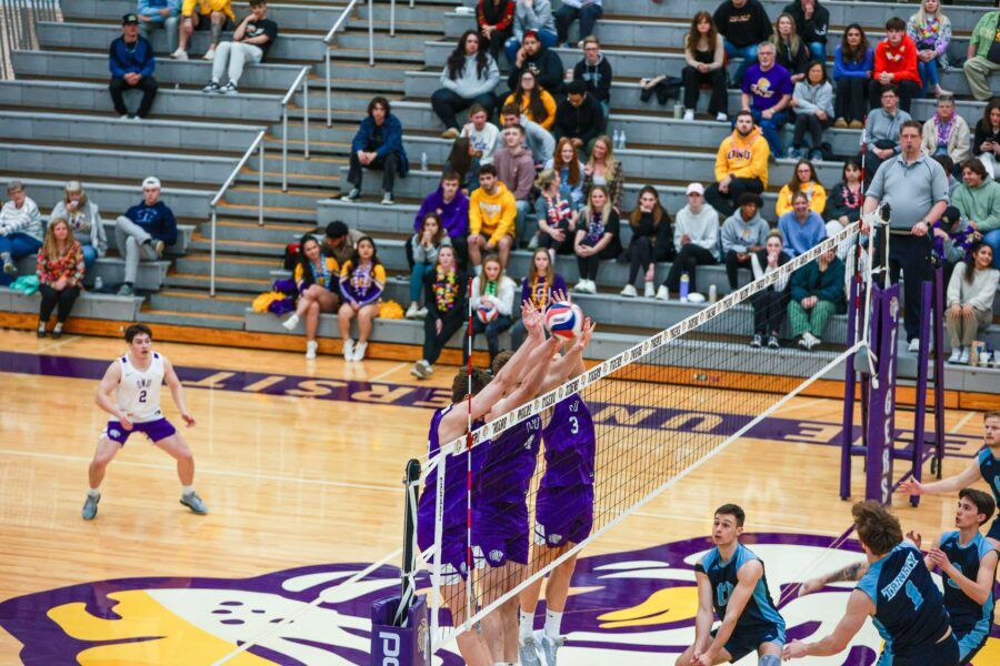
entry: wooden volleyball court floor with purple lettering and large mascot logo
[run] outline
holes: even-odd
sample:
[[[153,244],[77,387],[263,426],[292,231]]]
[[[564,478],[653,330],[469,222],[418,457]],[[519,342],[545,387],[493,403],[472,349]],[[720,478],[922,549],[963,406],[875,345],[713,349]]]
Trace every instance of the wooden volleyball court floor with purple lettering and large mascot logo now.
[[[124,343],[0,332],[0,664],[212,664],[227,655],[239,665],[367,664],[370,603],[398,587],[388,565],[400,561],[404,464],[426,453],[454,369],[417,382],[409,363],[156,341],[154,350],[187,387],[197,425],[182,432],[210,513],[178,503],[172,461],[137,436],[109,468],[97,519],[84,522],[87,466],[107,420],[93,393]],[[724,427],[767,402],[729,393],[729,413],[703,421]],[[584,549],[560,664],[672,663],[693,639],[693,561],[710,547],[713,509],[729,502],[747,512],[743,542],[763,558],[789,633],[831,630],[850,587],[794,592],[860,557],[850,503],[838,497],[841,410],[839,400],[793,398]],[[908,420],[901,414],[898,426]],[[946,425],[944,472],[953,474],[981,444],[982,415],[949,411]],[[670,428],[650,436],[669,438]],[[893,504],[903,528],[928,543],[952,525],[951,497]],[[387,566],[358,579],[373,564]],[[850,650],[809,663],[867,666],[879,647],[868,623]],[[994,628],[976,664],[998,663]]]

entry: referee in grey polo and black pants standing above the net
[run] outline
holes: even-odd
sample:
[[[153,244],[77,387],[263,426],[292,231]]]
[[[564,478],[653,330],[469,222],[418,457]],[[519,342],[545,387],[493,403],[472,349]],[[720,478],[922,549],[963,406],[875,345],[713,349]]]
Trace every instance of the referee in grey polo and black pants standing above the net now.
[[[900,128],[902,152],[882,163],[866,192],[862,214],[873,212],[881,202],[889,203],[889,279],[903,283],[903,325],[910,351],[920,349],[920,311],[922,286],[929,275],[928,254],[931,224],[941,219],[948,206],[948,178],[944,170],[920,151],[920,123],[908,120]],[[914,223],[913,221],[917,220]],[[876,254],[881,256],[881,250]]]

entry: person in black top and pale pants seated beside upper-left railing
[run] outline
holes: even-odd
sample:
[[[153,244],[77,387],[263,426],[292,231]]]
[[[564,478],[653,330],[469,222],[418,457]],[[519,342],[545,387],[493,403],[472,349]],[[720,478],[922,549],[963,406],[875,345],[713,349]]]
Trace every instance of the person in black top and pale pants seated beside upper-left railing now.
[[[278,39],[278,23],[268,18],[267,0],[250,0],[250,13],[237,26],[232,33],[232,41],[222,42],[218,53],[214,53],[213,46],[204,54],[206,60],[214,60],[214,62],[212,63],[212,80],[201,89],[201,92],[238,93],[243,68],[248,63],[260,64],[263,62],[276,39]],[[212,57],[209,58],[209,56]],[[226,85],[220,87],[222,74],[227,73],[229,81]]]

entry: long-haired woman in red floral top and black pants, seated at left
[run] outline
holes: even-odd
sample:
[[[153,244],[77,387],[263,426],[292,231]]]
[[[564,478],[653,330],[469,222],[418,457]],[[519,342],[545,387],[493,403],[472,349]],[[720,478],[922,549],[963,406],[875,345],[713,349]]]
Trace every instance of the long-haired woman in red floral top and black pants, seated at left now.
[[[56,326],[52,337],[62,336],[62,326],[83,289],[83,250],[73,238],[73,231],[62,218],[53,218],[46,230],[46,242],[38,251],[34,272],[41,292],[41,310],[38,314],[38,336],[46,336],[46,327],[52,311]]]

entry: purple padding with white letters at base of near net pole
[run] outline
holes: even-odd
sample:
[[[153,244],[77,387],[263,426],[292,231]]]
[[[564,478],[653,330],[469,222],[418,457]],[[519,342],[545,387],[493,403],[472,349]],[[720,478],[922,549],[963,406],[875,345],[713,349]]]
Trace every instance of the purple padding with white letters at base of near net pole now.
[[[371,666],[430,666],[427,596],[420,595],[407,613],[407,626],[392,626],[399,595],[371,605]]]

